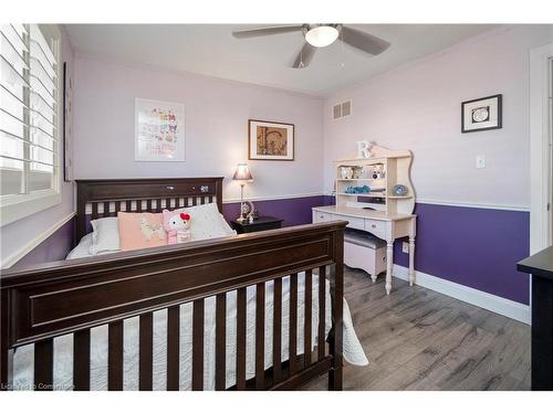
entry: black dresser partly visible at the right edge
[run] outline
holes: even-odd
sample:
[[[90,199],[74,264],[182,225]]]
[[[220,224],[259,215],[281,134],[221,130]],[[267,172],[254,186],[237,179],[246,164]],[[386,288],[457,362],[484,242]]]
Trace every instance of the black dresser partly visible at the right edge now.
[[[532,390],[553,390],[553,246],[517,268],[532,275]]]

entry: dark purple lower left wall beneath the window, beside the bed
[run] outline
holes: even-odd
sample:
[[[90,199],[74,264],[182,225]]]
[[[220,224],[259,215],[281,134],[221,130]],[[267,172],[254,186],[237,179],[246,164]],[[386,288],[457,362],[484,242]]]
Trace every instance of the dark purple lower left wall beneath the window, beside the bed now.
[[[75,219],[58,229],[50,237],[23,256],[13,267],[62,261],[73,247]]]

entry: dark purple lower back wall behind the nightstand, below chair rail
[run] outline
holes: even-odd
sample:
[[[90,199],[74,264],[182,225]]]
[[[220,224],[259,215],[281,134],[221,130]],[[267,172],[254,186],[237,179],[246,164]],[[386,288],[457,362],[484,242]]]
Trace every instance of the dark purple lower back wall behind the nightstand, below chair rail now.
[[[284,219],[282,225],[311,223],[311,209],[326,205],[324,195],[302,197],[298,199],[255,201],[253,203],[260,215]],[[240,214],[240,203],[222,204],[222,214],[228,221]]]

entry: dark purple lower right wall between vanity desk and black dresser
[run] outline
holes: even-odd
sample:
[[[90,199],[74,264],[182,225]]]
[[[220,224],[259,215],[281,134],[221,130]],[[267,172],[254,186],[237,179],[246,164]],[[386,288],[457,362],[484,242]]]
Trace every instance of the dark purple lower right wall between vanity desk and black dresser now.
[[[417,270],[529,304],[530,277],[517,272],[530,254],[529,212],[417,203],[415,213]],[[409,263],[399,241],[394,263]]]

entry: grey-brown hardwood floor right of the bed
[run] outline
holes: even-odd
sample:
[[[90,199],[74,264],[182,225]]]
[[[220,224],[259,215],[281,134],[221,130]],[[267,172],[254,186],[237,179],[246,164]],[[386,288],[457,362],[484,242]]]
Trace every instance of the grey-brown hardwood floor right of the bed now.
[[[529,326],[397,278],[386,296],[347,267],[345,297],[369,364],[345,363],[344,390],[530,390]]]

